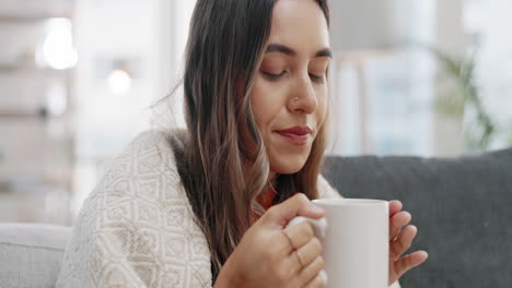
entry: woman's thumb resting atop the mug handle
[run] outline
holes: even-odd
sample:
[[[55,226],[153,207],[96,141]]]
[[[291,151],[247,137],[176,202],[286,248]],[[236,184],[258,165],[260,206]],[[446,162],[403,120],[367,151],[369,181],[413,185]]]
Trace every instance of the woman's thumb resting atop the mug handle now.
[[[318,219],[324,217],[324,209],[313,204],[306,195],[296,193],[283,203],[268,209],[264,216],[266,220],[282,228],[296,216]]]

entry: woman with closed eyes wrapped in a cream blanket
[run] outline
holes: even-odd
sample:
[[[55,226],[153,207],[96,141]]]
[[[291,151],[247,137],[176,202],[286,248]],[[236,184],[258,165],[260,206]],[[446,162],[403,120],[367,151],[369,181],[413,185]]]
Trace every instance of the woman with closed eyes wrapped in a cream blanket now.
[[[136,139],[83,205],[59,287],[323,287],[326,0],[198,0],[186,131]],[[302,193],[299,193],[302,192]],[[389,284],[416,229],[391,203]],[[396,284],[397,285],[397,284]]]

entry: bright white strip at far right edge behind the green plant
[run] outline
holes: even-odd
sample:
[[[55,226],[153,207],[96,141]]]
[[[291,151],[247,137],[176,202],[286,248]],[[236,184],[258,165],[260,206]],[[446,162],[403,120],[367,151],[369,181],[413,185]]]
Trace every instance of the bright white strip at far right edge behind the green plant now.
[[[491,147],[512,144],[512,1],[468,1],[465,28],[477,35],[476,76],[484,104],[498,124]]]

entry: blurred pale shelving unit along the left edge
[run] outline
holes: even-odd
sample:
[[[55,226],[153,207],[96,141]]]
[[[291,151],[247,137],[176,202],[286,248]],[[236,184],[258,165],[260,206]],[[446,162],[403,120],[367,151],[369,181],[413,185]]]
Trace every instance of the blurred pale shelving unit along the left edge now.
[[[74,2],[0,0],[0,221],[69,224]]]

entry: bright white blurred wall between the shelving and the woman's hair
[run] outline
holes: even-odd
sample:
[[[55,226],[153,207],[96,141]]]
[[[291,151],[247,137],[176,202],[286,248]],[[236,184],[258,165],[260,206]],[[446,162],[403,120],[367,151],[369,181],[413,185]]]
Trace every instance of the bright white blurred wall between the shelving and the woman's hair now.
[[[152,105],[176,84],[195,1],[78,0],[75,16],[79,64],[74,75],[77,158],[72,212],[92,191],[105,164],[141,131],[183,125],[181,103]],[[140,79],[116,95],[95,76],[98,58],[140,60]],[[155,124],[154,112],[164,116]],[[159,119],[160,121],[160,119]]]

